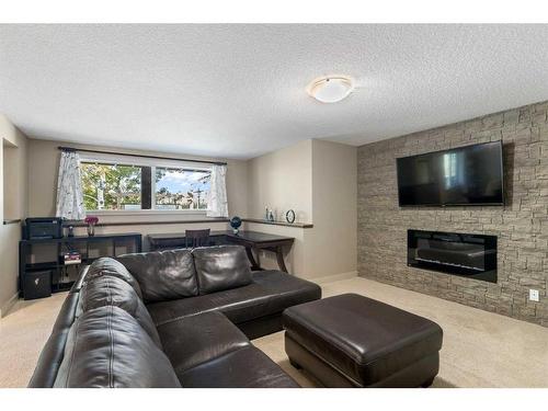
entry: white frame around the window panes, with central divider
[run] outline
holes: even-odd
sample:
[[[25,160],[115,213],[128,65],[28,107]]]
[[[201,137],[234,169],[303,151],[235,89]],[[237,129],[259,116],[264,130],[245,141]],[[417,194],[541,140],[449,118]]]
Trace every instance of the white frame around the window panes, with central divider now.
[[[174,160],[162,160],[162,159],[147,159],[147,158],[134,158],[127,156],[114,156],[114,155],[103,155],[103,153],[85,153],[85,156],[80,156],[80,164],[83,162],[96,162],[105,164],[116,164],[116,165],[130,165],[130,167],[150,167],[151,168],[151,208],[149,209],[87,209],[85,213],[93,215],[147,215],[147,214],[159,214],[159,215],[170,215],[170,214],[183,214],[183,215],[201,215],[204,216],[209,208],[203,209],[157,209],[156,206],[156,168],[169,168],[169,169],[183,169],[189,171],[207,171],[212,172],[213,165],[209,164],[198,164],[191,161],[174,161]],[[142,181],[141,181],[141,192],[142,192]],[[141,198],[142,204],[142,198]]]

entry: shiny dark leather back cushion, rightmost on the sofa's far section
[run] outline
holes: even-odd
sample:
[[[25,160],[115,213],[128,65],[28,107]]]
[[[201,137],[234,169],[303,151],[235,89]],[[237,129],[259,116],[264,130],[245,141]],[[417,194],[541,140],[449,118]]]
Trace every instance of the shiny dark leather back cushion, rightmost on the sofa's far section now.
[[[203,247],[192,250],[199,294],[251,284],[251,270],[241,246]]]

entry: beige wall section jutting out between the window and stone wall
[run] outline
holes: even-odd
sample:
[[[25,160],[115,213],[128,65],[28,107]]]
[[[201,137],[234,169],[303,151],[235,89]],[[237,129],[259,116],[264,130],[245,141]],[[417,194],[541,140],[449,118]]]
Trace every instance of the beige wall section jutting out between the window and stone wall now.
[[[295,238],[286,254],[289,272],[326,279],[356,275],[356,148],[306,140],[249,161],[248,210],[262,218],[264,207],[293,208],[313,228],[247,224],[246,228]],[[276,267],[271,254],[262,265]]]

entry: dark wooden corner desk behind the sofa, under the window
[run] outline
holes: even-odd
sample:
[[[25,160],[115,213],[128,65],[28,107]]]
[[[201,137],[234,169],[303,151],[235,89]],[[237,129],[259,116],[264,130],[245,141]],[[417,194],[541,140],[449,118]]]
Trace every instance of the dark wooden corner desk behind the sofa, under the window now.
[[[246,247],[248,259],[251,263],[251,270],[263,270],[261,267],[260,251],[266,250],[276,254],[279,270],[287,273],[284,262],[284,247],[292,247],[295,239],[293,237],[283,237],[269,235],[258,231],[240,231],[235,235],[232,231],[212,231],[209,235],[210,244],[240,244]],[[184,248],[186,240],[183,233],[159,233],[149,235],[151,250],[165,250],[174,248]],[[253,255],[253,251],[255,255]]]

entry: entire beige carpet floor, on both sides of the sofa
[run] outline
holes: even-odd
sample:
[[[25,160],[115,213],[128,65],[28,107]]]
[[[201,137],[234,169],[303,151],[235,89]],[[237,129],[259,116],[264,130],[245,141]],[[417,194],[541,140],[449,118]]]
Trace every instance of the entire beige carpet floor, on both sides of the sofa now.
[[[322,285],[323,296],[362,294],[436,321],[444,329],[434,387],[548,387],[548,329],[365,278]],[[66,294],[19,301],[0,320],[0,387],[25,387]],[[289,365],[283,332],[253,340],[301,386],[313,380]]]

